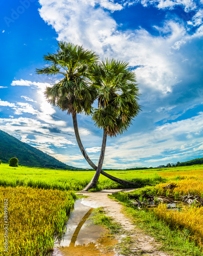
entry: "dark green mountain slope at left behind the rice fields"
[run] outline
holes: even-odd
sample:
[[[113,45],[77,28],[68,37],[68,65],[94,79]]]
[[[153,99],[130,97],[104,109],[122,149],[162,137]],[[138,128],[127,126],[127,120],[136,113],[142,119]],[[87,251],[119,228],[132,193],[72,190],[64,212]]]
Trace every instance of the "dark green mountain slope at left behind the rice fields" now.
[[[71,170],[78,169],[62,163],[54,157],[0,130],[0,159],[3,163],[8,163],[9,159],[12,157],[18,159],[18,164],[25,166]]]

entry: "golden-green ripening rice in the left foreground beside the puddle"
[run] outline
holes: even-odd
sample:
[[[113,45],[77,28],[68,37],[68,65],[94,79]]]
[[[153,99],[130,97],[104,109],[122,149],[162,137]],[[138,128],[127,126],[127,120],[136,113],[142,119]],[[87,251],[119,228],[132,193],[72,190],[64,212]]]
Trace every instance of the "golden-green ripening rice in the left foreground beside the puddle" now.
[[[4,200],[8,199],[8,252],[4,251]],[[70,191],[0,187],[0,255],[44,255],[61,236],[74,205]]]

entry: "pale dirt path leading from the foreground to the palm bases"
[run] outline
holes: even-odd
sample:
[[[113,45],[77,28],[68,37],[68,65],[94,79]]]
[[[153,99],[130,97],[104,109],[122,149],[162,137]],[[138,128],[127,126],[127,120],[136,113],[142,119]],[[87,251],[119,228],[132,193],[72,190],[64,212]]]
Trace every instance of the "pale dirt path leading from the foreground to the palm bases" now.
[[[121,223],[122,227],[127,231],[133,243],[130,246],[131,251],[136,252],[137,255],[148,255],[148,256],[168,256],[165,252],[157,250],[160,244],[157,244],[154,238],[144,234],[142,230],[131,224],[130,220],[122,214],[122,205],[107,197],[108,194],[114,194],[118,191],[130,191],[134,189],[109,189],[101,190],[94,193],[81,192],[78,195],[85,195],[88,198],[82,199],[82,204],[91,206],[94,208],[104,207],[106,215],[114,218],[117,222]],[[122,240],[122,238],[118,238]],[[136,255],[136,254],[129,254]],[[116,256],[122,254],[117,253]],[[171,254],[170,254],[171,255]]]

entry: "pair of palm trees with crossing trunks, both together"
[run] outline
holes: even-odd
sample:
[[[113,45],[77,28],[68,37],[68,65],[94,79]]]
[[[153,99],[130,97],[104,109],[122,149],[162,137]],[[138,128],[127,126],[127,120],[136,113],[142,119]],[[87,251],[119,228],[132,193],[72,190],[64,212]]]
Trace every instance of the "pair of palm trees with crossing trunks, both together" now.
[[[96,186],[100,173],[120,184],[136,185],[102,171],[107,136],[117,136],[127,131],[132,118],[140,112],[134,72],[129,70],[128,63],[124,61],[106,59],[99,63],[99,57],[93,51],[66,42],[59,42],[58,46],[57,53],[43,56],[52,65],[36,69],[36,73],[63,76],[53,87],[48,87],[44,94],[52,105],[72,114],[80,151],[89,165],[96,170],[95,176],[84,190]],[[96,99],[98,109],[93,109]],[[95,124],[103,129],[98,166],[89,159],[80,139],[77,114],[82,112],[92,115]]]

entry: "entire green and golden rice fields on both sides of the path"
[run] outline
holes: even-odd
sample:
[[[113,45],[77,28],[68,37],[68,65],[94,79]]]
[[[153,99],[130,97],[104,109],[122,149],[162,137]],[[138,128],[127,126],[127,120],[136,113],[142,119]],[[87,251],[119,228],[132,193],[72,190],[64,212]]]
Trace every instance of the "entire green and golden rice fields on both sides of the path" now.
[[[94,176],[94,171],[69,171],[0,165],[0,255],[46,255],[53,248],[54,238],[63,233],[64,223],[74,205],[75,194]],[[133,182],[150,183],[143,191],[157,194],[203,194],[203,165],[164,169],[114,170],[108,174]],[[164,188],[174,183],[173,189]],[[96,190],[123,188],[122,185],[100,176]],[[5,204],[8,199],[8,207]],[[5,206],[5,207],[3,207]],[[202,245],[202,210],[190,208],[168,212],[164,205],[153,214],[166,223],[187,228],[190,237]],[[8,209],[8,213],[7,213]],[[6,211],[4,211],[6,210]],[[4,229],[5,217],[9,224],[8,252]],[[184,220],[185,222],[181,222]],[[8,231],[8,230],[7,230]]]

